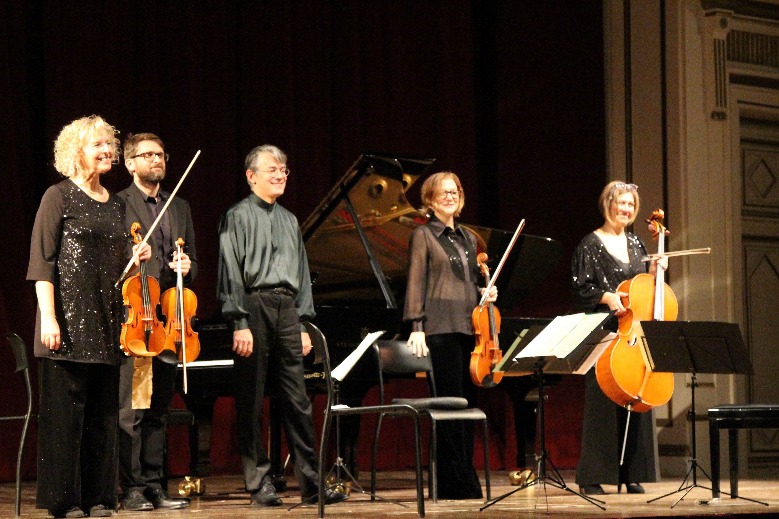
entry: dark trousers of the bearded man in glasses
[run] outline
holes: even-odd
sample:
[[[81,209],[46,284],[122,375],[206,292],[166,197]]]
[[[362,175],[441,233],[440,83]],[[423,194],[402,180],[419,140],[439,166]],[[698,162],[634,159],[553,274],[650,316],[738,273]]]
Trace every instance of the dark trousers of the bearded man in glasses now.
[[[119,376],[119,486],[160,489],[165,452],[167,415],[173,400],[176,366],[152,359],[152,395],[149,409],[132,409],[133,358],[123,359]]]

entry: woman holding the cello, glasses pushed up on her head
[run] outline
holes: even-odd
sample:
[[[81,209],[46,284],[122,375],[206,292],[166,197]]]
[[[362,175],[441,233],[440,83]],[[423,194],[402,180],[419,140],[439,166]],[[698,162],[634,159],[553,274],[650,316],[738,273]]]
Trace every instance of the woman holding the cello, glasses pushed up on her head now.
[[[583,238],[573,252],[571,290],[576,306],[583,312],[616,310],[625,314],[619,283],[648,272],[657,275],[657,265],[668,268],[661,256],[643,261],[647,248],[643,241],[626,231],[638,216],[640,199],[636,184],[613,181],[606,185],[598,201],[605,222]],[[643,493],[641,482],[655,482],[660,471],[654,412],[633,413],[628,430],[623,465],[619,465],[627,410],[610,400],[597,383],[595,370],[585,377],[582,449],[576,468],[576,483],[587,494],[605,493],[602,484],[622,483],[629,493]]]

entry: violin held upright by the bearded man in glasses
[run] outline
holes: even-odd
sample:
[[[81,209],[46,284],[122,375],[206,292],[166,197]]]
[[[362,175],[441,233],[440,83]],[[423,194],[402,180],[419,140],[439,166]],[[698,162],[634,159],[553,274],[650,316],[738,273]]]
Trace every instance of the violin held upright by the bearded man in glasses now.
[[[200,341],[196,331],[192,331],[192,317],[197,310],[197,296],[184,288],[182,275],[182,247],[184,240],[176,240],[178,257],[178,275],[176,286],[162,294],[162,313],[165,316],[165,347],[160,352],[160,360],[167,363],[190,363],[200,354]]]

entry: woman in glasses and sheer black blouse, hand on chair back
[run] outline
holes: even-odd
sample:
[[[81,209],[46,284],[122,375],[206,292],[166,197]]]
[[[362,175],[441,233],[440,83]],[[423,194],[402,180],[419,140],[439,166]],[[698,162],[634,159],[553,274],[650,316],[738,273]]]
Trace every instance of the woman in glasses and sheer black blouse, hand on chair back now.
[[[409,244],[404,321],[411,322],[413,331],[408,345],[417,356],[431,352],[438,396],[465,397],[475,407],[476,386],[469,372],[471,314],[484,289],[477,285],[476,238],[454,221],[465,203],[463,186],[456,174],[437,173],[422,184],[421,198],[432,215],[414,230]],[[497,296],[493,287],[488,301]],[[443,421],[438,427],[439,497],[481,499],[473,465],[473,422]]]

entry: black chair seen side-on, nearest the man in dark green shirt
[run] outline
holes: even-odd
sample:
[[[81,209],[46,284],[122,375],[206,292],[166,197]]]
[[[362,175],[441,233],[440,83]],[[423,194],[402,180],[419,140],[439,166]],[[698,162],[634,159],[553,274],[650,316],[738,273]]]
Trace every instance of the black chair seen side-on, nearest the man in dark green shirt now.
[[[314,350],[314,363],[323,365],[325,373],[325,383],[327,387],[327,403],[325,405],[325,421],[322,428],[322,439],[319,443],[319,517],[325,517],[325,463],[327,454],[327,445],[330,438],[330,427],[333,423],[333,417],[345,415],[364,415],[368,413],[391,412],[397,416],[407,416],[414,420],[414,450],[416,454],[416,477],[417,477],[417,512],[419,517],[425,517],[425,489],[422,479],[422,446],[420,441],[419,413],[411,405],[370,405],[366,407],[340,407],[337,405],[337,394],[333,383],[333,377],[330,374],[330,354],[327,351],[327,341],[322,331],[312,323],[304,323],[311,337],[312,349]],[[371,493],[375,494],[375,472],[371,481]],[[331,486],[330,488],[334,488]],[[364,490],[358,489],[362,493]],[[373,496],[371,497],[373,500]],[[399,503],[400,504],[400,503]],[[405,506],[405,505],[403,505]]]

